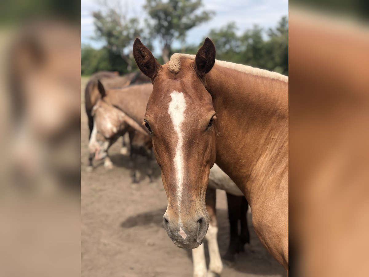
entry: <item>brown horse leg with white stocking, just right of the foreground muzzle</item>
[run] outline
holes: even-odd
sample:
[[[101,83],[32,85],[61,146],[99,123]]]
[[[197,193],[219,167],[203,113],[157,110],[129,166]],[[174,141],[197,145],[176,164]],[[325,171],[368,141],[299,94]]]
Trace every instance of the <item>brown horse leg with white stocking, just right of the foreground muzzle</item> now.
[[[217,216],[215,213],[215,200],[216,193],[215,189],[207,188],[206,190],[206,210],[210,216],[209,228],[206,233],[206,240],[208,243],[209,249],[209,270],[208,277],[220,276],[223,271],[223,263],[219,253],[218,246],[218,225],[217,225]]]

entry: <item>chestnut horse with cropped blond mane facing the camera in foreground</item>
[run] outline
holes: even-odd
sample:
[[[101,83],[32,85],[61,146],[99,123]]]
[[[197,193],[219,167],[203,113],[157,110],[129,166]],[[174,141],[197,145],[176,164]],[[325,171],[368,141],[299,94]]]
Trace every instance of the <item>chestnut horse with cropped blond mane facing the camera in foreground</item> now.
[[[164,228],[182,248],[206,235],[210,168],[216,162],[248,200],[255,232],[288,271],[288,77],[196,55],[160,65],[136,39],[134,58],[154,85],[145,126],[168,196]]]

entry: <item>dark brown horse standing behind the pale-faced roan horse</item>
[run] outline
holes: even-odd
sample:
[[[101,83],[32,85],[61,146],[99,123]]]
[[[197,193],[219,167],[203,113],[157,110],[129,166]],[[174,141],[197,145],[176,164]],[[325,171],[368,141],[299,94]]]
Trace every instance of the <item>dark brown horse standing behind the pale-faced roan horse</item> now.
[[[91,133],[93,130],[93,116],[92,116],[92,108],[96,104],[96,102],[101,98],[98,89],[98,81],[103,82],[106,88],[117,88],[117,87],[125,87],[131,84],[140,84],[140,83],[148,83],[150,79],[146,77],[141,72],[133,72],[122,77],[119,76],[117,71],[110,72],[110,71],[100,71],[94,73],[89,81],[86,84],[85,88],[85,110],[88,118],[89,124],[89,139],[91,137]],[[126,146],[125,141],[123,140],[123,148],[122,153],[126,153]],[[87,167],[88,171],[93,169],[92,167],[92,160],[93,156],[89,156],[89,165]],[[110,169],[113,167],[113,163],[108,156],[106,156],[104,161],[104,167]]]

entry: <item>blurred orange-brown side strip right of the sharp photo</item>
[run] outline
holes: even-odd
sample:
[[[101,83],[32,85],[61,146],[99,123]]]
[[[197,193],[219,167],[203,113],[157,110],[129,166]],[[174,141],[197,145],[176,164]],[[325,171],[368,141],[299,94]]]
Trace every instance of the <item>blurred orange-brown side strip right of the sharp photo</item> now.
[[[365,11],[339,3],[324,13],[314,2],[289,9],[297,276],[369,275],[369,29]]]

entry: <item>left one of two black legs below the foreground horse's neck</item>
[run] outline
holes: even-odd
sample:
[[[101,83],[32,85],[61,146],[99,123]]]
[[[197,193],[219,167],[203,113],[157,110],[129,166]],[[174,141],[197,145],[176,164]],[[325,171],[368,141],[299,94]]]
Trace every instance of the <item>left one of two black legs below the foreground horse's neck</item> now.
[[[224,259],[228,261],[230,266],[233,266],[235,261],[234,255],[239,252],[239,238],[238,238],[238,220],[240,218],[241,200],[244,196],[235,196],[227,193],[228,202],[228,219],[230,222],[230,244]]]

